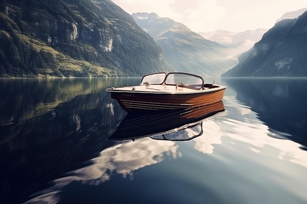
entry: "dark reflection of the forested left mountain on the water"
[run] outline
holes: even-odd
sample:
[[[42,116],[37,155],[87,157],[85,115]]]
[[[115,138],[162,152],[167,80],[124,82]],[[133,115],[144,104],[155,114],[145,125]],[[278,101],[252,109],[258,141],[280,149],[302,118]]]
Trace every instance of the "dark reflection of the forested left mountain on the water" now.
[[[0,80],[2,201],[21,203],[113,143],[110,127],[127,114],[105,92],[116,83],[125,80]]]

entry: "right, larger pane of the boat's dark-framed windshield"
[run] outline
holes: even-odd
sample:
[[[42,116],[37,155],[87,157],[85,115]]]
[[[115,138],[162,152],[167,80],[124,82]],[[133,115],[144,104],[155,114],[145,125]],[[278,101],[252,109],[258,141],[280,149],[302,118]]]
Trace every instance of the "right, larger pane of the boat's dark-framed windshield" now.
[[[190,87],[194,89],[202,89],[204,87],[204,79],[194,74],[169,73],[166,76],[165,84],[178,85],[181,87]]]

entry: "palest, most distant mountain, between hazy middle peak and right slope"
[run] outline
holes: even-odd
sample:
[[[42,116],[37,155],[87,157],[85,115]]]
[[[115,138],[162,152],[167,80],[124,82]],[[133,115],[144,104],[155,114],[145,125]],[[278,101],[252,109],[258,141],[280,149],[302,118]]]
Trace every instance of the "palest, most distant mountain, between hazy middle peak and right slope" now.
[[[237,58],[238,55],[248,51],[256,42],[261,40],[267,29],[258,28],[256,30],[246,30],[243,32],[230,32],[226,30],[216,30],[214,32],[200,32],[205,39],[215,41],[230,47],[229,57]]]

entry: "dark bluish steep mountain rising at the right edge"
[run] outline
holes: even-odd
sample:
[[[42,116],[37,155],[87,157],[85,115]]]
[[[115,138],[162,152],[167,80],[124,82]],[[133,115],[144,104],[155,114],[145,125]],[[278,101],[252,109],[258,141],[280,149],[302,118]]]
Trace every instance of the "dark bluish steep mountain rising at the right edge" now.
[[[222,76],[307,76],[307,12],[269,29]]]

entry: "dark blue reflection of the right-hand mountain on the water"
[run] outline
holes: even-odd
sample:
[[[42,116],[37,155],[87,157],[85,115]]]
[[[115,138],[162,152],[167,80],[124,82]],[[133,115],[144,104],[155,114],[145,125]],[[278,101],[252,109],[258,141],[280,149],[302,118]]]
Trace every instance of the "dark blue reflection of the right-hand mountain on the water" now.
[[[222,78],[269,128],[307,147],[307,78]]]

